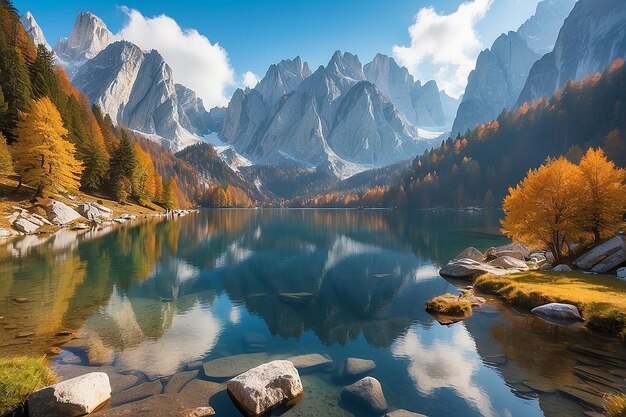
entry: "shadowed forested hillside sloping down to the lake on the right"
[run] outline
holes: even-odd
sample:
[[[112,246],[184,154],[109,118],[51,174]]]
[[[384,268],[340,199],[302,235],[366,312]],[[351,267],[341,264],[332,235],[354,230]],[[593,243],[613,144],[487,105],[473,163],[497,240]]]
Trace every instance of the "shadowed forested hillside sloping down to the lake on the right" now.
[[[496,120],[415,158],[401,181],[358,194],[319,195],[315,206],[499,206],[508,187],[549,156],[578,162],[602,147],[626,166],[626,66],[616,60],[602,74],[570,81],[553,97],[503,112]]]

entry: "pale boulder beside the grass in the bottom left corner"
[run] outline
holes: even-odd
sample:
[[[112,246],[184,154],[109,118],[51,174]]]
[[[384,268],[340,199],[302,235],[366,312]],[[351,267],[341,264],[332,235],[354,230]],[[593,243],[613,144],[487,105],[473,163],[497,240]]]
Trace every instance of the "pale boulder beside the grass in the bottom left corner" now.
[[[30,417],[75,417],[93,412],[111,398],[109,377],[91,372],[30,394]]]

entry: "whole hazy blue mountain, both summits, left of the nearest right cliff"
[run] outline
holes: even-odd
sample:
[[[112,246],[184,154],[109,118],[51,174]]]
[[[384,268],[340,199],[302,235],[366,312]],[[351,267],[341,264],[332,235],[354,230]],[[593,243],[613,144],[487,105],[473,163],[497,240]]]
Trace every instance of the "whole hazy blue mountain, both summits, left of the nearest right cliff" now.
[[[533,64],[551,50],[575,0],[544,0],[517,32],[502,34],[480,53],[468,77],[451,134],[463,134],[513,107]]]

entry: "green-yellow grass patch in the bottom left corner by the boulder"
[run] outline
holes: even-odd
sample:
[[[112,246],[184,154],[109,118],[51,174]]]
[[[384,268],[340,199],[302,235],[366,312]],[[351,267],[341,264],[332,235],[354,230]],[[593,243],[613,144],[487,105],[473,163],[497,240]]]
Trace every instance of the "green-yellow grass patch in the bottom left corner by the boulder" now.
[[[45,357],[0,358],[0,415],[19,407],[28,394],[55,382]]]

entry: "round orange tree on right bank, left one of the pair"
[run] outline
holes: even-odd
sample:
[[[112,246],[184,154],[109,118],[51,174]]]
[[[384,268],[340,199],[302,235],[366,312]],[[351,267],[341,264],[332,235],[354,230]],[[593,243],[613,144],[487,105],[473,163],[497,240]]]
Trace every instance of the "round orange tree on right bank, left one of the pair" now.
[[[502,232],[529,246],[547,247],[557,262],[565,258],[568,243],[577,241],[583,203],[580,169],[564,157],[548,159],[529,170],[504,199]]]

